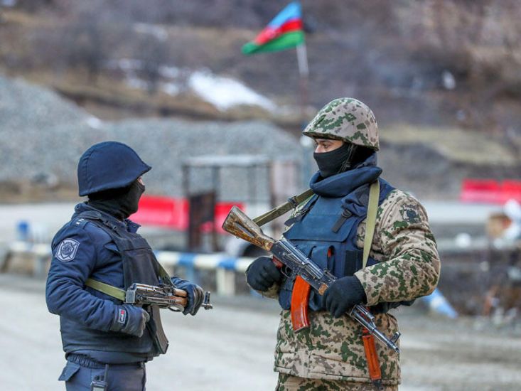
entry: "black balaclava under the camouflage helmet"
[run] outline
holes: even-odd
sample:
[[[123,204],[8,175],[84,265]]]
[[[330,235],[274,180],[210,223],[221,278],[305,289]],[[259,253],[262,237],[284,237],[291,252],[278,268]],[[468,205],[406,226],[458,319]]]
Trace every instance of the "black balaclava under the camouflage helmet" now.
[[[359,146],[344,142],[342,146],[333,151],[313,153],[313,158],[318,165],[322,178],[328,178],[337,173],[342,173],[354,168],[365,161],[374,151],[365,146]]]

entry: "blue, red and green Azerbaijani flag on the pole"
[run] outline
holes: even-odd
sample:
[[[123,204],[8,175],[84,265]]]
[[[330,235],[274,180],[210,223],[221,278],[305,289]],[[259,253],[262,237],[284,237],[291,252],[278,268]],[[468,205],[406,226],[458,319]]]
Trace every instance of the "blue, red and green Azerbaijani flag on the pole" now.
[[[299,1],[293,1],[279,12],[257,38],[242,46],[246,55],[294,48],[304,42],[302,11]]]

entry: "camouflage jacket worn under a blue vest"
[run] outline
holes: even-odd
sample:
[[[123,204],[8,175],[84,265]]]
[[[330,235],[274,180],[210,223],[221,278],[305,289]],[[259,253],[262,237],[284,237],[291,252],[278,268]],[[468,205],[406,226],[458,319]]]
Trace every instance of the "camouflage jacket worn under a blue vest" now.
[[[357,245],[363,248],[365,220],[358,226]],[[377,211],[370,257],[377,264],[355,273],[367,295],[367,305],[381,301],[407,301],[434,291],[439,279],[439,255],[418,200],[394,190]],[[274,299],[276,284],[264,292]],[[398,330],[392,314],[375,316],[378,328],[388,338]],[[281,311],[277,332],[274,370],[299,377],[370,382],[361,326],[345,315],[333,318],[326,311],[310,311],[310,328],[294,333],[290,311]],[[399,357],[376,342],[382,382],[399,384]]]

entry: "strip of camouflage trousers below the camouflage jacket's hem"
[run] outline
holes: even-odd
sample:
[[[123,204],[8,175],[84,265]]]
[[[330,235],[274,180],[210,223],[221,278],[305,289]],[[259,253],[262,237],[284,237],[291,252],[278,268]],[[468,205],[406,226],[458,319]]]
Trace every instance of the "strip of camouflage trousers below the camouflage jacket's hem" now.
[[[279,373],[276,391],[375,391],[371,383],[347,382],[344,380],[306,379]],[[397,385],[385,385],[382,391],[398,391]]]

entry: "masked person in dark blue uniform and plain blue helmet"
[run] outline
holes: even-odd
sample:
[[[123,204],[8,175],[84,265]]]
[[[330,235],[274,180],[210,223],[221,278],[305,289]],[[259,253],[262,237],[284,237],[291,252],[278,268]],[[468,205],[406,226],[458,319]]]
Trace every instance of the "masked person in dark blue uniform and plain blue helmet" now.
[[[92,287],[119,289],[132,283],[170,284],[188,293],[183,314],[203,303],[200,286],[171,281],[150,246],[127,218],[145,191],[141,176],[151,169],[129,146],[105,141],[87,149],[77,167],[80,195],[70,222],[55,235],[45,299],[60,315],[67,364],[59,380],[67,390],[145,390],[145,363],[166,352],[159,309],[123,304]]]

